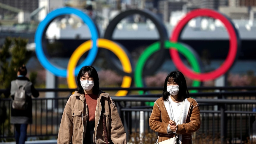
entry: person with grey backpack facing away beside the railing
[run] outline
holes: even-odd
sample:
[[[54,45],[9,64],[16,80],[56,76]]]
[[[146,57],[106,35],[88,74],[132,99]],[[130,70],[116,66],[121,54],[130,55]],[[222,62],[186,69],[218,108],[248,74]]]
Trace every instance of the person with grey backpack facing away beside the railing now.
[[[32,124],[32,98],[39,96],[39,92],[34,88],[34,85],[26,77],[27,69],[23,65],[18,69],[17,78],[12,80],[11,85],[6,89],[4,95],[6,97],[10,96],[14,99],[15,91],[19,89],[20,86],[25,86],[26,92],[26,109],[19,110],[11,108],[11,124],[15,127],[15,141],[16,144],[24,144],[27,139],[27,126]]]

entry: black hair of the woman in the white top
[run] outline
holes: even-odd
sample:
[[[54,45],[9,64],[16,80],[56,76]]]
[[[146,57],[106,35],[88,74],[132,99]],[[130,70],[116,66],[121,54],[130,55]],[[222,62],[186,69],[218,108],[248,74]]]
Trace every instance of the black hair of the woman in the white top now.
[[[187,89],[187,83],[184,75],[179,71],[170,72],[165,78],[165,85],[163,89],[163,99],[167,100],[169,98],[169,92],[167,92],[167,82],[173,80],[179,85],[178,101],[181,102],[189,97],[189,91]]]

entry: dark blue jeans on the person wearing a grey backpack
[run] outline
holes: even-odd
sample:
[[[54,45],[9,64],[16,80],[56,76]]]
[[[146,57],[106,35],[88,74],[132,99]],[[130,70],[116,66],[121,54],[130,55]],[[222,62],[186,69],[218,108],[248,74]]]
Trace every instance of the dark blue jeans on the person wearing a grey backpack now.
[[[27,139],[28,124],[14,124],[16,144],[24,144]]]

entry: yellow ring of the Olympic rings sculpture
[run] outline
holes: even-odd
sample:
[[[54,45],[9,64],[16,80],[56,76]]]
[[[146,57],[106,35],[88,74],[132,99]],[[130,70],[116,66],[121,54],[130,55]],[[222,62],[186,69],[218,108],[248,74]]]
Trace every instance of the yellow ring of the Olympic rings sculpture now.
[[[75,75],[74,75],[75,67],[78,63],[79,58],[88,50],[90,50],[91,46],[92,46],[92,40],[88,40],[82,43],[81,45],[79,45],[78,48],[74,51],[74,53],[72,53],[72,56],[70,57],[67,65],[67,83],[69,88],[77,88]],[[110,41],[108,39],[97,39],[97,47],[105,48],[112,51],[120,59],[124,72],[127,72],[127,73],[132,72],[132,65],[129,61],[127,54],[115,42]],[[132,83],[132,77],[124,76],[121,87],[129,88],[131,86],[131,83]],[[127,93],[128,91],[126,90],[120,90],[115,94],[115,96],[126,96]]]

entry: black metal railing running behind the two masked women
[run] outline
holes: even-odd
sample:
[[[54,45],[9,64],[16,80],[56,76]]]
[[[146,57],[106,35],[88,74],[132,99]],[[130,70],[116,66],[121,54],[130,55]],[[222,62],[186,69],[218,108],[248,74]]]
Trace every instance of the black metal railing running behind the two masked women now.
[[[191,93],[200,105],[201,127],[193,137],[206,137],[213,143],[244,143],[252,141],[253,124],[256,116],[256,91],[255,87],[211,87],[197,88],[196,93]],[[64,97],[36,98],[33,102],[33,124],[28,126],[28,137],[57,137],[62,112],[69,95],[74,89],[38,89],[44,92],[67,92]],[[104,91],[128,90],[144,92],[161,90],[161,88],[102,88]],[[3,92],[3,90],[0,90]],[[46,94],[45,94],[46,95]],[[148,119],[154,101],[161,94],[130,94],[127,96],[111,96],[116,102],[118,112],[124,123],[128,140],[131,134],[150,132]],[[14,127],[10,124],[10,98],[1,98],[0,115],[4,112],[7,116],[0,125],[0,139],[2,141],[14,138]],[[2,119],[2,117],[0,118]]]

